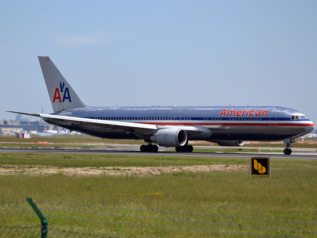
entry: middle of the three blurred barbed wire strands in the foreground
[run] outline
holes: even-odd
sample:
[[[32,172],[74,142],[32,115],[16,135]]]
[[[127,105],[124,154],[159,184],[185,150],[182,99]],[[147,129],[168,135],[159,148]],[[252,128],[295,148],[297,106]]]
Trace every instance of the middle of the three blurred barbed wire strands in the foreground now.
[[[21,209],[28,209],[32,210],[32,208],[28,207],[21,207],[21,206],[10,206],[8,208],[21,208]],[[316,234],[317,231],[315,230],[296,230],[296,229],[288,229],[288,228],[279,228],[279,227],[264,227],[264,226],[251,226],[251,225],[243,225],[243,224],[236,224],[233,222],[219,222],[219,221],[202,221],[202,220],[186,220],[186,219],[178,219],[178,218],[169,218],[169,217],[142,217],[142,216],[137,216],[133,214],[126,214],[126,215],[121,215],[121,214],[107,214],[107,213],[101,213],[101,212],[84,212],[84,211],[74,211],[74,210],[68,210],[68,209],[59,209],[59,208],[41,208],[41,210],[50,210],[50,211],[61,211],[61,212],[68,212],[68,213],[74,213],[74,214],[85,214],[85,215],[101,215],[101,216],[109,216],[109,217],[133,217],[133,218],[138,218],[142,220],[146,219],[154,219],[154,220],[162,220],[162,221],[176,221],[176,222],[192,222],[192,223],[200,223],[200,224],[207,224],[207,225],[225,225],[225,226],[238,226],[240,228],[257,228],[257,229],[271,229],[271,230],[280,230],[280,231],[288,231],[288,232],[297,232],[297,233],[309,233],[309,234]]]

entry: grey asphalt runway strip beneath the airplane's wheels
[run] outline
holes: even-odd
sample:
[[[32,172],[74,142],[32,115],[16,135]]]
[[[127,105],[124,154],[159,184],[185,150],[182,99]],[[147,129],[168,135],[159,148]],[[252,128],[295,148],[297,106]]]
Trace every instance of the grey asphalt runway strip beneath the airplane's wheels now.
[[[61,154],[102,154],[102,155],[146,155],[146,156],[180,156],[180,157],[233,157],[249,158],[268,157],[278,159],[307,159],[317,160],[317,153],[292,153],[284,155],[283,153],[177,153],[158,151],[156,153],[142,153],[131,150],[90,150],[90,149],[22,149],[22,148],[0,148],[0,153],[18,152],[18,153],[61,153]]]

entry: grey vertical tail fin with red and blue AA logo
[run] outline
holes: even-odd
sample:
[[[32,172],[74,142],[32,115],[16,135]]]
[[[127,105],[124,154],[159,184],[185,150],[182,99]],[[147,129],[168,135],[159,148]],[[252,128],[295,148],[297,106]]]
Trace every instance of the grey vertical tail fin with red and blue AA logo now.
[[[49,56],[38,56],[54,112],[88,107]]]

